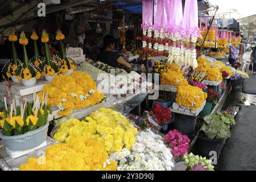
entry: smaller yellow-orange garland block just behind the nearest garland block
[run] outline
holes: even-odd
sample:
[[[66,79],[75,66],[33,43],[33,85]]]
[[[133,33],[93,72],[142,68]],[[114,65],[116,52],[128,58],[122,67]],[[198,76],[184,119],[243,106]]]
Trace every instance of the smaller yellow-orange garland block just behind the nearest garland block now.
[[[177,72],[177,71],[171,71],[170,69],[162,73],[161,75],[161,84],[163,85],[177,85],[179,82],[183,81],[184,78],[183,71]]]

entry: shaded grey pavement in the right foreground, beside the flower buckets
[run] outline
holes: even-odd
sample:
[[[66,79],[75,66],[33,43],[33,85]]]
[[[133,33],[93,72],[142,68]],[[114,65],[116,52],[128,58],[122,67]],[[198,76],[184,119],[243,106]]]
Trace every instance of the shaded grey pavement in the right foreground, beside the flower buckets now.
[[[218,159],[220,171],[256,170],[256,106],[242,106]]]

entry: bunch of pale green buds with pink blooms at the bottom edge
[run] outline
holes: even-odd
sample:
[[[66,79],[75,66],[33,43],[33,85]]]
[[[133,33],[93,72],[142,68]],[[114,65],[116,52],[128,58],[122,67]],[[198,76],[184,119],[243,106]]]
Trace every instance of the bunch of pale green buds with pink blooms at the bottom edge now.
[[[190,153],[184,155],[183,160],[191,171],[214,171],[214,166],[211,165],[211,160],[202,158],[202,156]]]

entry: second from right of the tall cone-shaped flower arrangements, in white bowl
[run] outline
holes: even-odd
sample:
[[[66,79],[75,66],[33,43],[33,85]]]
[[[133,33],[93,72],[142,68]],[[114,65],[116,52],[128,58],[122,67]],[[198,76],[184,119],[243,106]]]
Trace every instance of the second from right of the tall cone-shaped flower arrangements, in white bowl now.
[[[42,70],[42,76],[45,77],[47,81],[53,80],[58,73],[61,72],[61,63],[59,63],[58,59],[51,57],[51,52],[49,48],[49,35],[46,30],[42,31],[41,42],[45,44],[45,67]]]

